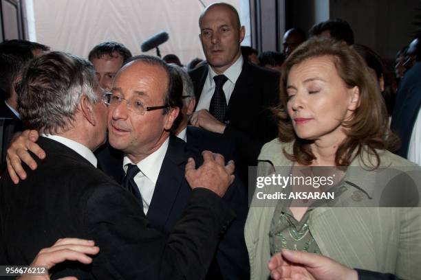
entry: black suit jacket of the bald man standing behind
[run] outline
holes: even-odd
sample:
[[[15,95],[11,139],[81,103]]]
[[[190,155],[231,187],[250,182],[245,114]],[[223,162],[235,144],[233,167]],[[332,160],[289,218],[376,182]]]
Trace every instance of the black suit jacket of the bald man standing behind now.
[[[208,65],[189,74],[198,101],[208,75]],[[263,144],[277,137],[277,123],[268,108],[277,106],[278,101],[279,74],[244,60],[228,102],[228,124],[224,130],[224,135],[235,141],[241,160],[241,177],[246,177],[248,165],[257,165]]]

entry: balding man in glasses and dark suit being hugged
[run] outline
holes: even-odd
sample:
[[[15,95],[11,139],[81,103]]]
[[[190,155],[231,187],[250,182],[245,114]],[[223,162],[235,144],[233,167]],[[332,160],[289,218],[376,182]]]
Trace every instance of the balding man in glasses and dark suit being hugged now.
[[[116,76],[111,91],[111,102],[113,98],[124,98],[130,102],[150,106],[149,108],[160,108],[162,100],[167,100],[174,108],[178,108],[177,113],[184,110],[180,93],[170,92],[169,97],[164,98],[164,92],[159,91],[162,84],[165,84],[162,81],[169,79],[171,84],[173,75],[177,75],[175,69],[171,68],[169,78],[162,75],[162,63],[162,60],[157,58],[135,57]],[[151,224],[169,232],[181,217],[191,192],[183,178],[182,170],[188,157],[197,158],[197,152],[184,141],[170,136],[171,130],[175,131],[175,128],[180,127],[184,119],[183,114],[175,115],[175,112],[171,111],[165,116],[157,111],[139,115],[135,110],[129,110],[130,106],[110,104],[109,143],[125,153],[123,168],[126,174],[131,164],[140,169],[134,178],[140,191],[140,205],[143,206]],[[168,124],[171,117],[174,119],[171,122],[174,123],[173,126]],[[191,140],[187,138],[187,143]],[[173,183],[171,188],[168,185],[170,182]],[[248,277],[248,259],[243,234],[247,196],[241,183],[236,181],[224,196],[224,200],[235,209],[237,219],[228,228],[218,247],[219,268],[225,268],[222,271],[223,275],[237,275],[237,279]]]

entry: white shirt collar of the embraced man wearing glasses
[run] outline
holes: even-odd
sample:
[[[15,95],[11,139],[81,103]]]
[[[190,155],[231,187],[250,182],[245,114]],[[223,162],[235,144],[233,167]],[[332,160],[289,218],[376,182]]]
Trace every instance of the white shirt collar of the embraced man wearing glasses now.
[[[158,175],[160,174],[161,165],[164,161],[164,157],[166,154],[166,150],[168,150],[169,138],[167,138],[164,143],[152,154],[149,154],[146,158],[139,161],[136,165],[138,165],[140,171],[147,176],[149,180],[156,185],[156,181],[158,180]],[[123,169],[125,173],[127,172],[127,165],[131,163],[134,164],[127,156],[123,159]]]

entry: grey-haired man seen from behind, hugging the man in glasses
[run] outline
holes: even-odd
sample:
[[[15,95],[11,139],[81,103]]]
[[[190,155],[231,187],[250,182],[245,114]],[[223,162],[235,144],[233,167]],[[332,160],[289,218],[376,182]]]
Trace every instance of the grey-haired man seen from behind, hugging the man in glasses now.
[[[181,91],[180,82],[169,91]],[[131,185],[122,189],[96,169],[91,150],[105,141],[107,127],[101,95],[89,62],[68,54],[46,54],[25,72],[21,113],[41,132],[48,156],[37,170],[25,167],[29,176],[17,186],[8,174],[1,178],[0,264],[29,264],[40,248],[77,236],[95,240],[100,253],[91,266],[56,266],[56,277],[201,279],[233,218],[218,198],[233,182],[233,165],[210,153],[199,170],[188,161],[193,191],[184,215],[169,236],[150,229]]]

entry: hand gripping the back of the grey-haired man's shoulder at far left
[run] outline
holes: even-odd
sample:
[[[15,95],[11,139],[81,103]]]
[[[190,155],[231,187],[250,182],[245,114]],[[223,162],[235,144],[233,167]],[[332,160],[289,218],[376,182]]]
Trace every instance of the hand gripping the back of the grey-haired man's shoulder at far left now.
[[[13,139],[8,148],[6,162],[8,163],[8,172],[13,183],[19,183],[19,178],[25,180],[26,172],[23,170],[22,161],[26,163],[32,170],[36,169],[36,162],[28,152],[30,150],[40,159],[45,158],[45,152],[35,142],[38,140],[38,132],[36,130],[25,130],[19,137]]]

